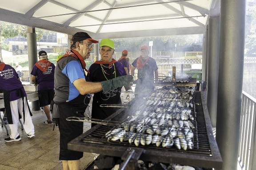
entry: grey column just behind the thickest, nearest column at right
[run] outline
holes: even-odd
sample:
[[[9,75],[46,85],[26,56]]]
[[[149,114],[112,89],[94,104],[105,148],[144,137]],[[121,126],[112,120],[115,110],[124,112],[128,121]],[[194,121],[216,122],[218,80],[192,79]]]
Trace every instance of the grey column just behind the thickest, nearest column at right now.
[[[207,108],[212,127],[216,127],[217,91],[219,76],[220,52],[220,16],[210,17],[208,27],[208,60],[207,60]]]

